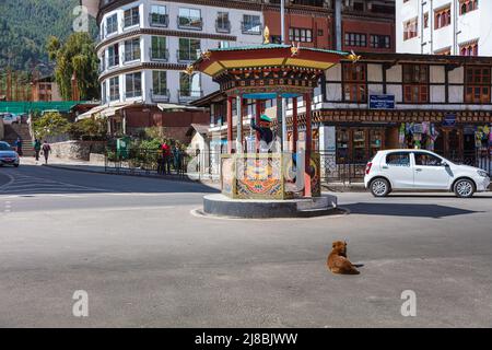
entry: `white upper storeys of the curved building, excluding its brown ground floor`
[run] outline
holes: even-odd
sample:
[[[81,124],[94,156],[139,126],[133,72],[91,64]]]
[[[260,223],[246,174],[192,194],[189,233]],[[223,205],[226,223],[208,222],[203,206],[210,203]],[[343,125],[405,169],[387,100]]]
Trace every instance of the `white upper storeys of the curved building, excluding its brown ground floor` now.
[[[97,20],[103,103],[186,104],[218,89],[184,72],[200,52],[262,42],[261,12],[194,1],[105,1]]]

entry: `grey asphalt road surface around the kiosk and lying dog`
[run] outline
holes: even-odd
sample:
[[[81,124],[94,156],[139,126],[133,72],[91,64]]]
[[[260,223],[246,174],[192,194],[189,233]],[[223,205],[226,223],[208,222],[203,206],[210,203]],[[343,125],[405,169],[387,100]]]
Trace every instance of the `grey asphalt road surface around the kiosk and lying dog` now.
[[[350,214],[317,219],[192,215],[213,191],[0,168],[0,327],[492,326],[491,194],[345,192]],[[360,276],[327,271],[335,240]],[[89,317],[72,314],[78,290]]]

